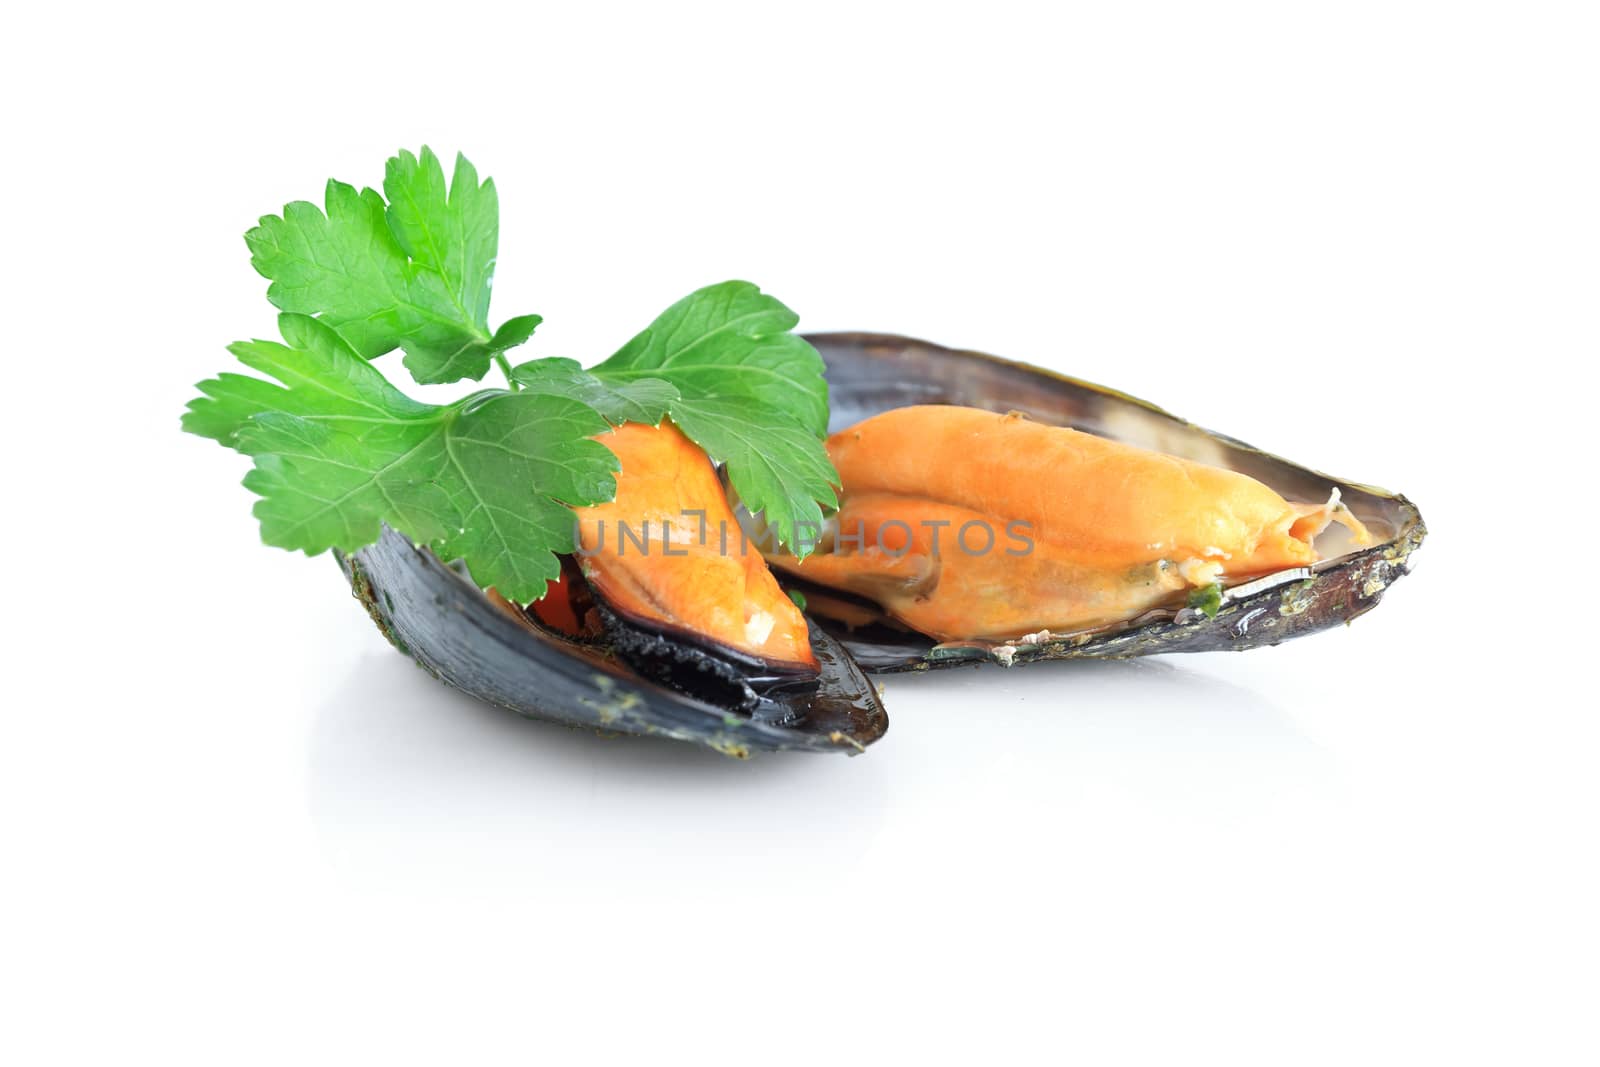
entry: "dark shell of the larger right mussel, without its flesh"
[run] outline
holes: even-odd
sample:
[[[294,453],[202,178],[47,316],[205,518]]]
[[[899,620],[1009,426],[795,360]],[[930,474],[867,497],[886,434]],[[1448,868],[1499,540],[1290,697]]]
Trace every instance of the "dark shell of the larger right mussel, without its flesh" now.
[[[867,670],[922,670],[971,662],[1011,665],[1037,659],[1128,657],[1277,645],[1371,611],[1384,590],[1406,573],[1408,557],[1427,533],[1416,506],[1403,496],[1307,470],[1114,389],[981,352],[960,352],[891,334],[829,333],[806,339],[827,363],[832,430],[890,408],[920,403],[1021,411],[1040,422],[1070,426],[1238,470],[1291,501],[1325,501],[1338,488],[1341,499],[1366,525],[1374,541],[1365,549],[1350,547],[1310,568],[1237,585],[1224,595],[1216,617],[1198,608],[1174,608],[1152,611],[1115,627],[1050,635],[1034,643],[936,645],[904,629],[861,624],[861,605],[854,605],[854,629],[827,621],[824,625],[835,632]]]

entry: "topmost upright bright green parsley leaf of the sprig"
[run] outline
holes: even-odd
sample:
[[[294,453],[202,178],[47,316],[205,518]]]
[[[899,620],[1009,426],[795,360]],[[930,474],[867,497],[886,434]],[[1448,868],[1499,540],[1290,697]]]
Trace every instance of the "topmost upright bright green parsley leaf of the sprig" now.
[[[298,200],[245,235],[251,264],[272,282],[267,299],[315,315],[365,358],[398,347],[419,382],[474,381],[522,344],[536,315],[490,333],[499,242],[494,182],[456,157],[446,187],[432,150],[400,152],[373,189],[330,181],[323,210]],[[515,323],[515,325],[514,325]]]

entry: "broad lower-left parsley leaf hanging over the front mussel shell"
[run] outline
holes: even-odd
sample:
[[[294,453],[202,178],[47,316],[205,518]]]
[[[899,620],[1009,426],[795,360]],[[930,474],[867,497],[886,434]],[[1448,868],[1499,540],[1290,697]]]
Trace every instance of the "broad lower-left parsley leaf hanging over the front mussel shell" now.
[[[288,344],[232,346],[282,386],[224,374],[200,384],[184,429],[254,458],[262,541],[315,555],[355,550],[382,523],[462,558],[477,582],[536,600],[573,547],[568,506],[610,499],[606,429],[555,395],[482,390],[453,405],[411,400],[320,320],[282,315]]]

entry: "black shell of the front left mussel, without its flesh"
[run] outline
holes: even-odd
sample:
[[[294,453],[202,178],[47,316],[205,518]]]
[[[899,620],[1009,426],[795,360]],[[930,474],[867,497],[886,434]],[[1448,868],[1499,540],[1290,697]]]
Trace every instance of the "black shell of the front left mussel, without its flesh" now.
[[[888,729],[872,683],[814,622],[818,683],[770,691],[738,710],[640,675],[603,641],[574,641],[518,621],[394,530],[341,555],[339,565],[395,648],[435,678],[518,715],[693,741],[736,757],[778,749],[856,753]]]

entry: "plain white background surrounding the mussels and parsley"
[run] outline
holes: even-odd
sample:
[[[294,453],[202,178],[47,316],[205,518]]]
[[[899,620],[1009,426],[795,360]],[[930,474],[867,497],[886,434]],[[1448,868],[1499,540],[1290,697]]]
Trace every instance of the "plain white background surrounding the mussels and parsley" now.
[[[1589,5],[5,37],[8,1062],[1595,1062]],[[422,142],[496,178],[530,354],[752,278],[1402,490],[1432,537],[1283,648],[888,678],[854,760],[475,705],[178,432],[270,336],[243,230]]]

